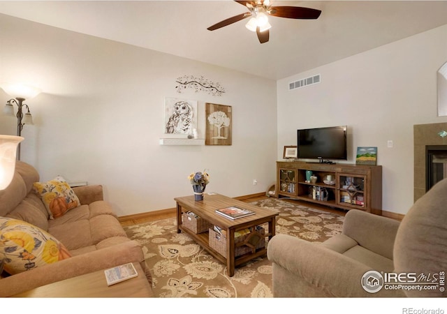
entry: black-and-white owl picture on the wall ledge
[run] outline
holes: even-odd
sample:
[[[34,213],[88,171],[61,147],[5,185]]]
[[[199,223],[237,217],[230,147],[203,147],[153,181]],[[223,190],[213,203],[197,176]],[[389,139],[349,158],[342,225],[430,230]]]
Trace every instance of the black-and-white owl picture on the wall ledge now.
[[[192,135],[197,128],[197,100],[165,98],[165,134]]]

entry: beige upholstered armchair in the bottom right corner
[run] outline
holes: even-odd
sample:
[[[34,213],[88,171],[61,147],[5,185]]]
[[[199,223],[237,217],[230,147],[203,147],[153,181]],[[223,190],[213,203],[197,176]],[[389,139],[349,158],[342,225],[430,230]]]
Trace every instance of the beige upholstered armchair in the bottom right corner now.
[[[441,284],[447,271],[446,204],[444,179],[413,204],[402,223],[351,210],[342,234],[322,244],[277,234],[268,244],[274,297],[446,297],[440,285],[374,293],[362,287],[370,271],[434,275]]]

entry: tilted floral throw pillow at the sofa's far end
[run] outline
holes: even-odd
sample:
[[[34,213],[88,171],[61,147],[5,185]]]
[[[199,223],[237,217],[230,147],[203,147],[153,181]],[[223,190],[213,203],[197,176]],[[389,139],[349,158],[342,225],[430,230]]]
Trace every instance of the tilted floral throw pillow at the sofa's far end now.
[[[56,177],[47,182],[35,182],[33,188],[41,196],[50,218],[57,218],[70,209],[80,206],[78,196],[63,177]]]

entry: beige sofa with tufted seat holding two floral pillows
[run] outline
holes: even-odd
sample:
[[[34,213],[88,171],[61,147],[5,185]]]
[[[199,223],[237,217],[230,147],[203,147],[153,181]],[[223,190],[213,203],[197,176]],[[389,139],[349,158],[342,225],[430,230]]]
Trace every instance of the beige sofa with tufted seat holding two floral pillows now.
[[[102,186],[73,188],[80,206],[50,219],[41,197],[32,189],[37,181],[39,174],[34,167],[18,161],[12,183],[0,191],[0,217],[24,220],[40,227],[64,244],[71,257],[12,276],[5,276],[3,272],[0,297],[127,262],[139,262],[152,285],[142,248],[126,236],[110,204],[103,200]]]

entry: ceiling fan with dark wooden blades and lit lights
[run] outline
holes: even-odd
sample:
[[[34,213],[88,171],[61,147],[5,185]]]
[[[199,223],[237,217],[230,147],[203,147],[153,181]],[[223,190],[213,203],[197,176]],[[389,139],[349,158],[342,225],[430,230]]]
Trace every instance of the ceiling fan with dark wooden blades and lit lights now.
[[[256,31],[260,43],[267,43],[269,39],[269,29],[272,27],[268,22],[268,15],[287,17],[289,19],[315,20],[321,14],[321,10],[313,8],[302,8],[300,6],[272,6],[270,0],[236,2],[242,4],[242,6],[246,6],[249,9],[249,12],[230,17],[208,27],[207,30],[214,31],[215,29],[220,29],[221,27],[226,27],[227,25],[251,17],[245,27],[250,31]]]

